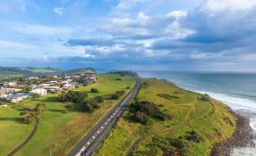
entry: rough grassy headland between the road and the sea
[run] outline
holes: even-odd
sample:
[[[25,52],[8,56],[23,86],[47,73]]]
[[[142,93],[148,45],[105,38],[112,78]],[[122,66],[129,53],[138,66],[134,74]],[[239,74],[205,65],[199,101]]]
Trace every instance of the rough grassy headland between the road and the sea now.
[[[185,91],[165,80],[144,79],[137,96],[139,101],[157,103],[161,111],[173,118],[166,121],[150,119],[148,125],[141,125],[128,119],[129,111],[117,122],[97,156],[125,155],[132,144],[141,139],[134,156],[157,156],[170,152],[180,155],[206,156],[214,144],[230,137],[235,130],[236,118],[226,105],[210,99],[201,100],[201,94]],[[194,131],[199,143],[188,139],[188,132]],[[182,148],[173,141],[179,138]]]

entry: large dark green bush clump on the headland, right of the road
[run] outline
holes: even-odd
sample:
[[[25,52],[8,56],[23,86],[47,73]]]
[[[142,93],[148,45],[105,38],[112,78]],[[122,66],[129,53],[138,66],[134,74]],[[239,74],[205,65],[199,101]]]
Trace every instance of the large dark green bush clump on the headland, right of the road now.
[[[132,118],[141,124],[147,124],[149,117],[160,120],[171,119],[170,115],[160,111],[157,104],[147,101],[136,101],[130,105],[129,110],[132,112]]]

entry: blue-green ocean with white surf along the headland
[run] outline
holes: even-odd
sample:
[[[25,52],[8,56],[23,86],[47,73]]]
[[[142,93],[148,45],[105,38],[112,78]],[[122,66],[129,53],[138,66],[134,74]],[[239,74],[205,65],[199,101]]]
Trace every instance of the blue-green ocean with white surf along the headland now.
[[[184,89],[209,94],[233,110],[252,111],[256,132],[256,73],[137,71],[143,78],[161,78]],[[234,149],[232,156],[256,156],[255,148]]]

